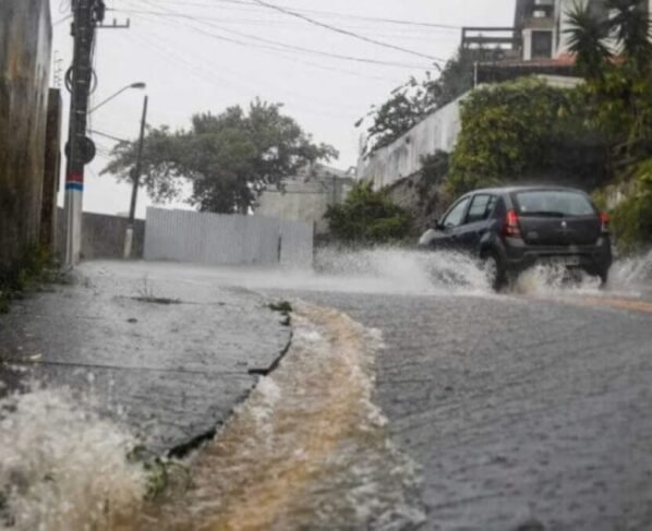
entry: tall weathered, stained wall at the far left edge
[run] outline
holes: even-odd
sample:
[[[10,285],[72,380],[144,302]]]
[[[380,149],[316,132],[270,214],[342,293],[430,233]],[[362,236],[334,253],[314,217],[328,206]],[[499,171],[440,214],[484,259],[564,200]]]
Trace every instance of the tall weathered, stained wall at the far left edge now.
[[[51,40],[48,0],[0,1],[0,275],[39,239]]]

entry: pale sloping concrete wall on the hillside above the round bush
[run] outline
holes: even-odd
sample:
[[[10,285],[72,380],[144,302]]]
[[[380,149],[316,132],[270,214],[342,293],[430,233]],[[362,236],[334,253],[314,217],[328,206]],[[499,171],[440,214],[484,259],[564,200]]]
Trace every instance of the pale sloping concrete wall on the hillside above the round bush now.
[[[433,112],[393,144],[374,152],[358,164],[358,179],[371,181],[374,189],[389,186],[421,170],[421,157],[437,149],[450,153],[461,131],[462,96]]]

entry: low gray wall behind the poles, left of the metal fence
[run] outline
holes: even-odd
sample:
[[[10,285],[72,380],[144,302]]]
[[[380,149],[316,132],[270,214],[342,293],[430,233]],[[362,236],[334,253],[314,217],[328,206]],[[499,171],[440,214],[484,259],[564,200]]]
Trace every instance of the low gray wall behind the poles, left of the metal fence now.
[[[124,254],[124,233],[128,219],[120,216],[84,213],[82,220],[82,260],[121,260]],[[58,208],[57,215],[58,255],[63,255],[65,245],[65,216]],[[134,225],[133,257],[142,258],[145,244],[145,221],[136,219]]]

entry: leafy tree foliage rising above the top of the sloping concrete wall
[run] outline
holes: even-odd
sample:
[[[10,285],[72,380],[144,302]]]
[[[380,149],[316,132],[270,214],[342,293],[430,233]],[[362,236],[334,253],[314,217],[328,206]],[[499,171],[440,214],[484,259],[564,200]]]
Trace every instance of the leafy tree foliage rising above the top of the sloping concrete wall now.
[[[444,107],[473,87],[473,64],[491,56],[491,50],[460,48],[442,69],[439,76],[425,73],[421,81],[414,76],[391,92],[391,97],[379,107],[373,106],[367,114],[371,125],[366,130],[363,155],[388,146],[399,136],[422,121],[427,114]],[[357,123],[360,125],[364,119]]]

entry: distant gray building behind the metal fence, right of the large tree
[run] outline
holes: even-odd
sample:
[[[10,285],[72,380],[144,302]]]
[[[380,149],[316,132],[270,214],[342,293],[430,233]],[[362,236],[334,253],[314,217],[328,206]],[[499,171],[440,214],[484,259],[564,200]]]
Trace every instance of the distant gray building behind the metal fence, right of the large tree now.
[[[263,193],[254,215],[313,224],[315,234],[328,232],[329,205],[342,203],[354,180],[342,170],[315,164],[283,181],[281,190]]]

